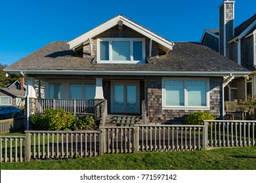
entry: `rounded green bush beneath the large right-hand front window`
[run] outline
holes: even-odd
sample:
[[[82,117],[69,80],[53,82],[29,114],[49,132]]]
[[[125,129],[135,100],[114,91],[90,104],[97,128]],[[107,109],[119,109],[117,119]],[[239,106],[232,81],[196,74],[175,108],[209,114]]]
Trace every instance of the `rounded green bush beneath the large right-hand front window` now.
[[[203,125],[203,120],[215,120],[215,117],[212,114],[209,114],[209,112],[201,111],[193,112],[186,116],[184,120],[184,124],[186,125]]]

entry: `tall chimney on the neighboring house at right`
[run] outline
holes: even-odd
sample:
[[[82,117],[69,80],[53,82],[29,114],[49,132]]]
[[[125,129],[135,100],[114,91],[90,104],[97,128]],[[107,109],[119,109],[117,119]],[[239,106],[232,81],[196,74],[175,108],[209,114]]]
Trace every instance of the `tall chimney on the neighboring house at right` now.
[[[227,58],[230,58],[228,41],[234,37],[234,3],[224,0],[219,6],[219,50]]]

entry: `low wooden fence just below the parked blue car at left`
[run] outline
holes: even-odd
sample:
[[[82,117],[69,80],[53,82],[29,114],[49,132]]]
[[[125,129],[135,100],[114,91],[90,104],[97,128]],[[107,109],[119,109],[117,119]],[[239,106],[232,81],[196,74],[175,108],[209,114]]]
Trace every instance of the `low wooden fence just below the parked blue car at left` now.
[[[0,135],[10,133],[12,130],[25,128],[25,118],[11,118],[0,121]]]

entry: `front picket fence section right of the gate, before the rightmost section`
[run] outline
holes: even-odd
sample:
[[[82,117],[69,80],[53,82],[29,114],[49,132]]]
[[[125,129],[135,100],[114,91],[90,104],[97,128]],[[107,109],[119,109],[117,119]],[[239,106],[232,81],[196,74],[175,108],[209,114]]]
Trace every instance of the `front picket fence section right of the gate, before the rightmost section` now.
[[[135,125],[138,151],[186,151],[204,148],[203,125]]]

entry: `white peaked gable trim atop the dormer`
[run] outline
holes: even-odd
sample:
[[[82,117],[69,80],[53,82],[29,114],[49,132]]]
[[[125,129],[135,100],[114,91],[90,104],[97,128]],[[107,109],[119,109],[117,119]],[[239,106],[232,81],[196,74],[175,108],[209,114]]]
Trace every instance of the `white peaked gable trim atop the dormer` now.
[[[137,24],[136,22],[133,22],[133,20],[130,20],[129,18],[119,14],[118,16],[108,20],[107,22],[98,25],[94,29],[91,29],[91,31],[88,31],[87,33],[84,33],[83,35],[80,35],[79,37],[73,39],[72,41],[69,41],[68,44],[70,44],[70,49],[74,49],[79,47],[83,42],[87,41],[88,39],[91,39],[95,37],[96,35],[99,35],[100,33],[110,29],[111,27],[114,27],[118,24],[119,21],[122,21],[123,25],[126,25],[127,27],[130,27],[131,29],[141,33],[145,37],[148,37],[149,39],[152,39],[153,41],[158,42],[162,46],[165,46],[165,48],[172,50],[173,49],[173,42],[168,41],[164,37],[161,37],[160,35],[154,33],[153,31],[150,31],[146,27]]]

